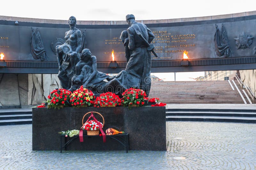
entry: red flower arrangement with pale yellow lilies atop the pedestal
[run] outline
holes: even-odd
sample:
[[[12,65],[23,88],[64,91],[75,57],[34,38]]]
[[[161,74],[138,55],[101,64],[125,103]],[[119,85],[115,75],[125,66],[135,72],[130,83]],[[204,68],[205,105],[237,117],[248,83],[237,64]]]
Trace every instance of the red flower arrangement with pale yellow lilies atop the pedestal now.
[[[81,86],[70,95],[70,103],[73,107],[88,107],[94,104],[95,96],[91,90]]]

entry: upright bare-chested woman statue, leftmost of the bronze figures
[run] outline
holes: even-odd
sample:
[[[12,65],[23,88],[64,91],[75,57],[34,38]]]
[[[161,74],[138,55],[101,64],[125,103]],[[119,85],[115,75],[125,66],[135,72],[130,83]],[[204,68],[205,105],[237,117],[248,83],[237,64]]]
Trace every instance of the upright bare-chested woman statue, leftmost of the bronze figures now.
[[[79,50],[81,48],[82,34],[76,28],[76,18],[68,19],[70,30],[65,33],[66,42],[56,46],[57,61],[59,65],[58,78],[63,89],[71,87],[71,79],[75,75],[76,64],[79,61]]]

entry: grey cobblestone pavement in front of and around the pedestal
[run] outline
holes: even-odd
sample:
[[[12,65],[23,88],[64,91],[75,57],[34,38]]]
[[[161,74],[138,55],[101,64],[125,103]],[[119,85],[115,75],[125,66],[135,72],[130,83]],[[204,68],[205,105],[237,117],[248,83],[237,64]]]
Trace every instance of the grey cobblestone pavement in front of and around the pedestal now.
[[[32,125],[0,126],[0,169],[256,169],[256,124],[166,122],[167,152],[32,151]],[[177,160],[178,159],[178,160]]]

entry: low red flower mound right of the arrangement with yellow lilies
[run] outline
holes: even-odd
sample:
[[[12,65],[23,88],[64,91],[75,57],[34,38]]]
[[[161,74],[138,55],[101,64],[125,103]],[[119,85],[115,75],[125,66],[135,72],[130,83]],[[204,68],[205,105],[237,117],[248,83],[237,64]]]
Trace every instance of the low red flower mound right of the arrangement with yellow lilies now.
[[[94,107],[115,107],[121,105],[119,96],[115,93],[107,92],[102,93],[99,97],[96,97]]]

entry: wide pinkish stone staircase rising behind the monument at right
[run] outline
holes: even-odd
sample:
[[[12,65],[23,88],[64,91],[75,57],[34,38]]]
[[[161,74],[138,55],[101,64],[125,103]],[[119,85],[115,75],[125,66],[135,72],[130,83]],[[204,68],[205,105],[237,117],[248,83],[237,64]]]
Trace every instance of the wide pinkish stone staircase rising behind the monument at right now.
[[[234,82],[249,104],[238,82]],[[149,97],[158,97],[167,104],[244,103],[233,81],[230,83],[234,90],[228,81],[153,81]]]

